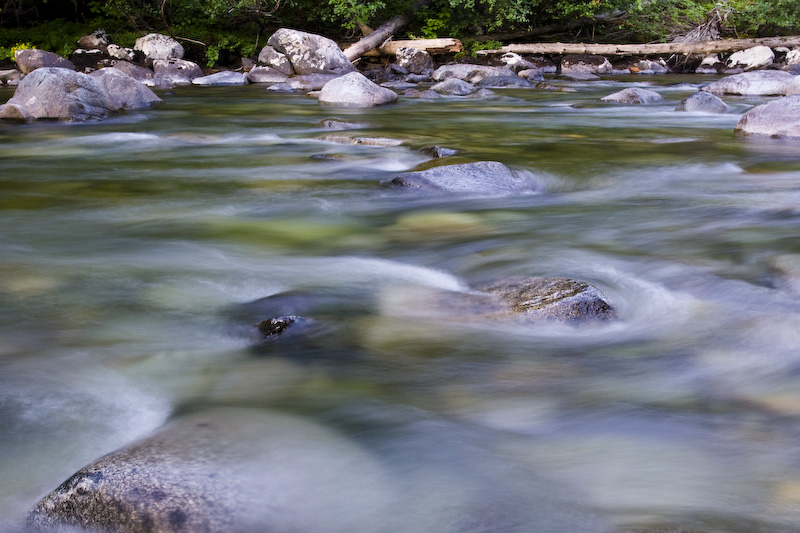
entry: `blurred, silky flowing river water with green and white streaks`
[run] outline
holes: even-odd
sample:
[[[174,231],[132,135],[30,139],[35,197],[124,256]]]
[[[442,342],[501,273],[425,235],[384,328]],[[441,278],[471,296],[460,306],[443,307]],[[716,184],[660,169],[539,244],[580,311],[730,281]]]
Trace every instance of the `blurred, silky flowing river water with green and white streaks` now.
[[[350,531],[449,531],[459,502],[492,525],[458,531],[800,531],[800,144],[734,134],[763,98],[673,111],[709,79],[367,110],[188,87],[104,122],[0,126],[0,529],[171,418],[246,407],[389,472],[396,526],[370,526],[376,496],[342,510]],[[665,101],[599,102],[629,86]],[[540,192],[386,185],[429,145]],[[517,275],[588,281],[620,318],[431,303]],[[253,350],[237,306],[285,291],[330,331]]]

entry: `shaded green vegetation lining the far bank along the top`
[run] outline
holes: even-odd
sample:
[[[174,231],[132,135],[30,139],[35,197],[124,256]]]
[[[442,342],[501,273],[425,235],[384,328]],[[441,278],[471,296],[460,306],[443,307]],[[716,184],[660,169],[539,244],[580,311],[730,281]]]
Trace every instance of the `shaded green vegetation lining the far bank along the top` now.
[[[338,40],[360,36],[409,9],[411,0],[0,0],[0,59],[21,44],[69,55],[102,27],[132,46],[145,33],[182,39],[208,63],[254,56],[280,26]],[[800,33],[797,0],[431,0],[415,10],[409,37],[472,41],[664,42],[710,17],[721,36]]]

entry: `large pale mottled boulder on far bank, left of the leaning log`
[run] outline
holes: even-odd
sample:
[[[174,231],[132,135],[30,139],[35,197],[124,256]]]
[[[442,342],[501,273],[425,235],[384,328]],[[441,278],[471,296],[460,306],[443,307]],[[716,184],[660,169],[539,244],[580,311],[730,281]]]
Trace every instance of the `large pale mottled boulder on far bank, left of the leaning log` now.
[[[321,35],[281,28],[267,44],[284,54],[298,74],[344,74],[355,70],[339,45]]]

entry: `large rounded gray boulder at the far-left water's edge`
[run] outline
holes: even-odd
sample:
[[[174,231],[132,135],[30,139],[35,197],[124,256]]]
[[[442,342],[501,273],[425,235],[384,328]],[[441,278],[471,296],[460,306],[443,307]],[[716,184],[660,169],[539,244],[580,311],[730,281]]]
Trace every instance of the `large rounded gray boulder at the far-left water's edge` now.
[[[99,81],[58,67],[42,67],[25,76],[8,104],[40,120],[99,119],[121,109]]]

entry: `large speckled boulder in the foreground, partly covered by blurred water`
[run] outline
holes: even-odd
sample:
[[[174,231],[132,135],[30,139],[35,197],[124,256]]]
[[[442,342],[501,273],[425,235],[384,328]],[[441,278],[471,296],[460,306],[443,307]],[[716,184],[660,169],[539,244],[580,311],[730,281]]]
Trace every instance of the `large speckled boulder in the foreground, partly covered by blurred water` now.
[[[298,417],[217,409],[81,469],[30,513],[36,531],[391,530],[388,479],[358,445]],[[365,505],[364,502],[369,504]]]

